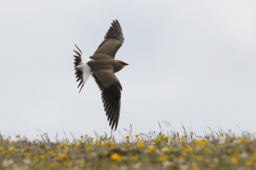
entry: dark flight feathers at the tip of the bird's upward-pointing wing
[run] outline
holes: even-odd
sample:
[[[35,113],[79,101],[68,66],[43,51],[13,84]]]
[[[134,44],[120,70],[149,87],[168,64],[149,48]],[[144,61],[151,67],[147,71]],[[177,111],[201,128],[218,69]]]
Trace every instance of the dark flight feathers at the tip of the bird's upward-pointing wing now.
[[[110,39],[120,40],[121,42],[124,42],[123,30],[122,30],[122,27],[121,27],[120,23],[118,22],[118,20],[113,20],[111,25],[112,26],[110,26],[110,28],[108,29],[108,32],[106,33],[103,42],[100,43],[98,49],[104,43],[108,42],[108,40],[110,40]],[[97,52],[97,50],[96,50],[96,52]]]

